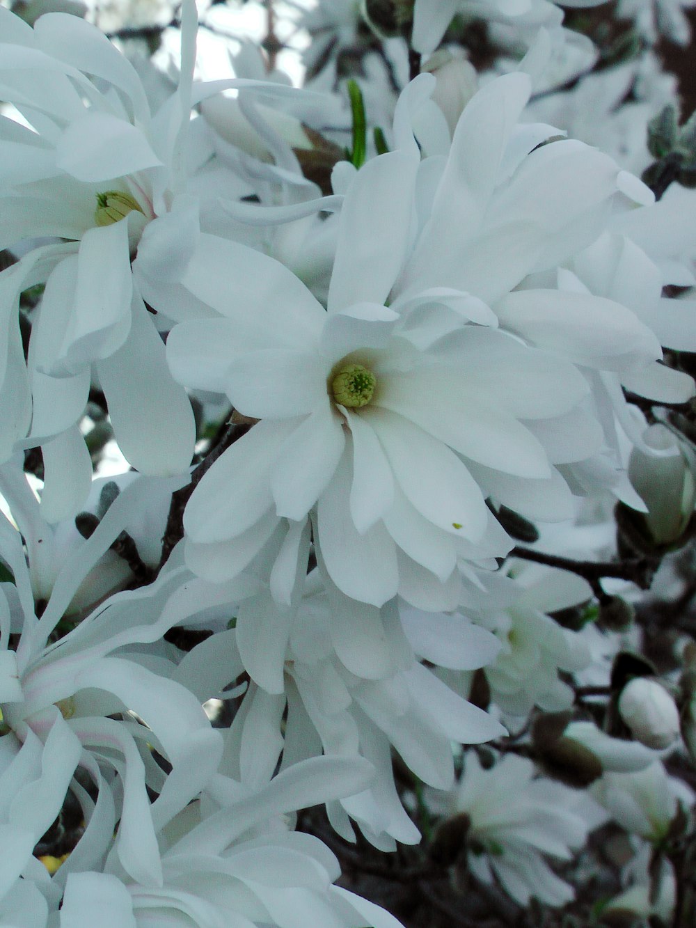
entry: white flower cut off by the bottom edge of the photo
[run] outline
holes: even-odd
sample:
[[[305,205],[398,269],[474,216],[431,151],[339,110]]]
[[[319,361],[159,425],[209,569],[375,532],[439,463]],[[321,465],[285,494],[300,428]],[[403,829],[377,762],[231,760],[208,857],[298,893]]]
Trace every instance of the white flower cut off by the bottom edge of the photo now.
[[[367,766],[367,765],[366,765]],[[126,874],[74,873],[60,909],[60,928],[92,928],[94,912],[118,928],[401,928],[385,909],[332,883],[338,860],[317,838],[288,831],[281,816],[326,801],[366,781],[345,760],[305,761],[252,795],[203,813],[195,802],[162,831],[162,883]]]

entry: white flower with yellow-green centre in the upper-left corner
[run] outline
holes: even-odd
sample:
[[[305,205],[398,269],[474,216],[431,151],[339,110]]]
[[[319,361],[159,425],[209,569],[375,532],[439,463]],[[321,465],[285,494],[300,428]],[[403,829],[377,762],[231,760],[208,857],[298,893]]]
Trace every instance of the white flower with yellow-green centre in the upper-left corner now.
[[[190,111],[224,87],[260,83],[194,86],[196,30],[186,2],[179,85],[153,115],[135,69],[95,27],[55,13],[31,29],[0,7],[0,98],[30,124],[0,120],[0,248],[21,253],[27,239],[63,239],[0,274],[0,460],[43,445],[46,483],[57,483],[50,513],[45,506],[51,521],[73,515],[89,490],[78,423],[93,368],[136,470],[181,473],[192,457],[193,414],[158,331],[200,315],[178,282],[200,224],[186,190]],[[18,303],[36,284],[45,292],[27,372]]]

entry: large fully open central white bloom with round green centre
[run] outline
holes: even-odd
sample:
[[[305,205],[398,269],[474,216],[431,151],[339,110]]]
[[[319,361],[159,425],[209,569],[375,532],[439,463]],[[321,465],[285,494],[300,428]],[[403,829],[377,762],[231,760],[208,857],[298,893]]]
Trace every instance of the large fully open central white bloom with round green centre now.
[[[528,155],[548,127],[513,135],[529,94],[515,74],[471,100],[445,165],[421,164],[409,108],[433,85],[421,75],[402,96],[400,150],[357,174],[338,169],[349,182],[328,312],[287,268],[231,242],[201,236],[187,265],[182,283],[219,316],[171,332],[174,376],[261,419],[187,505],[187,562],[198,574],[236,574],[279,533],[279,598],[289,601],[311,514],[319,556],[348,596],[379,606],[398,592],[420,608],[454,609],[458,561],[511,547],[485,496],[535,517],[572,515],[553,465],[584,460],[602,441],[574,361],[613,355],[630,366],[660,354],[618,303],[509,292],[539,262],[593,238],[616,192],[613,162],[575,143]],[[414,204],[428,203],[432,165],[439,186],[423,217]],[[569,191],[575,173],[582,192]],[[533,332],[543,319],[550,350],[497,329],[496,313]],[[571,332],[573,361],[552,353]]]

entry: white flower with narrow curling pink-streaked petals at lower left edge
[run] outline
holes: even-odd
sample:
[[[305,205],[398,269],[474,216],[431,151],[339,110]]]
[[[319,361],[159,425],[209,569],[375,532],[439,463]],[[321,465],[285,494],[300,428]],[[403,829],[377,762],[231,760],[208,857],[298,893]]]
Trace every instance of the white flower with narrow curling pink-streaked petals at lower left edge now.
[[[159,640],[182,616],[182,600],[187,603],[182,568],[161,574],[152,586],[117,594],[51,641],[84,578],[147,498],[148,483],[141,478],[124,490],[95,533],[71,552],[40,615],[34,612],[19,533],[0,522],[0,552],[14,577],[14,583],[0,587],[0,704],[6,732],[0,739],[0,814],[12,847],[3,856],[6,888],[57,817],[69,787],[86,827],[54,880],[64,883],[68,872],[98,865],[111,850],[132,877],[157,885],[156,829],[198,795],[217,770],[222,740],[200,702],[169,678],[170,662],[153,655],[149,663],[140,655],[144,644]],[[14,650],[10,633],[17,636]],[[148,745],[168,759],[168,775]],[[72,781],[78,767],[97,790],[96,804]],[[148,787],[158,794],[154,803]]]

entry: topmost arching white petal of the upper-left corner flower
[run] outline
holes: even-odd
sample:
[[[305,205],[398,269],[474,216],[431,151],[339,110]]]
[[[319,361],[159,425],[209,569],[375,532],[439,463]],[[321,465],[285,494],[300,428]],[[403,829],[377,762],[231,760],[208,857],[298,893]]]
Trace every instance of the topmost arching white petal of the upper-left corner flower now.
[[[36,20],[34,41],[46,55],[118,87],[133,104],[135,119],[148,120],[148,98],[135,68],[103,32],[79,17],[48,13]]]

